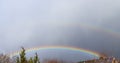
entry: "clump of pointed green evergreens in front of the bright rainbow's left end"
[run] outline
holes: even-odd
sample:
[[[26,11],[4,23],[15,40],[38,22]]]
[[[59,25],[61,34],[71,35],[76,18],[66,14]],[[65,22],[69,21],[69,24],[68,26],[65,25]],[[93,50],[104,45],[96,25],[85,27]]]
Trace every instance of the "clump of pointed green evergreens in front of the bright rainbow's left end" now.
[[[20,56],[17,57],[16,63],[40,63],[37,53],[34,57],[31,57],[27,60],[25,49],[22,47],[22,51],[20,52]]]

